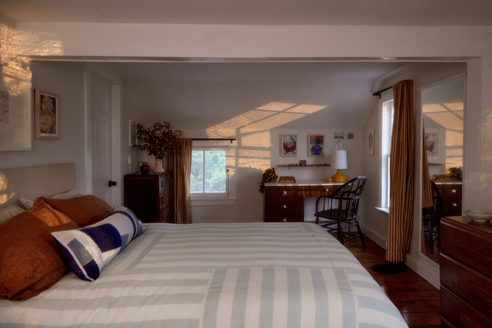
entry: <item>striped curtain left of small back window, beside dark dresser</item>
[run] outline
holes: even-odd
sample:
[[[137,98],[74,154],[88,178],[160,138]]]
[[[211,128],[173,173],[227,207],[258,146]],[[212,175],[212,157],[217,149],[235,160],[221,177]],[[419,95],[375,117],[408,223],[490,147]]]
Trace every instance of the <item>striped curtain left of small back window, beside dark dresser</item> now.
[[[174,223],[191,223],[191,197],[189,178],[191,174],[191,138],[180,138],[181,154],[170,154],[167,169],[174,177]]]

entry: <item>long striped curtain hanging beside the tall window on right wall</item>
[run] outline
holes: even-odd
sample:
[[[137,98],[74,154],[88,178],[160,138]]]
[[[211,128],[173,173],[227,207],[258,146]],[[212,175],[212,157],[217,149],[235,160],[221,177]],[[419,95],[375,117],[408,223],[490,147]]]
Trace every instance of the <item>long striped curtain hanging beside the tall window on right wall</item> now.
[[[413,220],[413,81],[398,82],[393,86],[393,93],[395,112],[390,152],[390,220],[386,260],[402,262],[410,245]]]

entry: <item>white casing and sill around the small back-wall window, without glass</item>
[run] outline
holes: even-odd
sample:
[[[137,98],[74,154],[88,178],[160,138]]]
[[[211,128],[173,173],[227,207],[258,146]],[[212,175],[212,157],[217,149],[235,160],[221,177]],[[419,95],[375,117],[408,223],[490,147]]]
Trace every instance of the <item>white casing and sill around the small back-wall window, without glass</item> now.
[[[191,206],[204,205],[236,205],[236,181],[237,181],[237,143],[229,140],[193,140],[192,150],[194,148],[224,148],[226,149],[226,172],[227,177],[227,195],[216,196],[214,193],[191,193]],[[195,194],[195,195],[193,195]],[[199,196],[198,196],[199,195]],[[223,194],[221,194],[223,195]]]

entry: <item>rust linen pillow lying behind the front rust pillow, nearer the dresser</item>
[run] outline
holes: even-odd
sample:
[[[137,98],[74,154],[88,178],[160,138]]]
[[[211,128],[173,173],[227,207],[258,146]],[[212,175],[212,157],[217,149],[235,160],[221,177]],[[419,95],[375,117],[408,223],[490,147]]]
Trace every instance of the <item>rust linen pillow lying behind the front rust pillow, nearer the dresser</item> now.
[[[89,226],[111,214],[113,208],[99,197],[86,195],[68,199],[44,198],[54,209],[77,222],[81,227]]]

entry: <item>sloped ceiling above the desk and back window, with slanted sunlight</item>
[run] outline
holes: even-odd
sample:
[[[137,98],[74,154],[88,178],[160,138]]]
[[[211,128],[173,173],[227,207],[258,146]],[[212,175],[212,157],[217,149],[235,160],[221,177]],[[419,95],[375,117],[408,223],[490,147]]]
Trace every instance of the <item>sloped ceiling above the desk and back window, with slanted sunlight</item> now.
[[[361,129],[377,99],[371,95],[376,82],[408,66],[398,62],[97,64],[123,79],[124,106],[140,113],[140,120],[166,120],[183,129],[208,129],[238,120],[252,123],[255,120],[248,115],[261,115],[254,110],[271,103],[290,104],[283,109],[304,106],[263,121],[269,126],[262,129]]]

